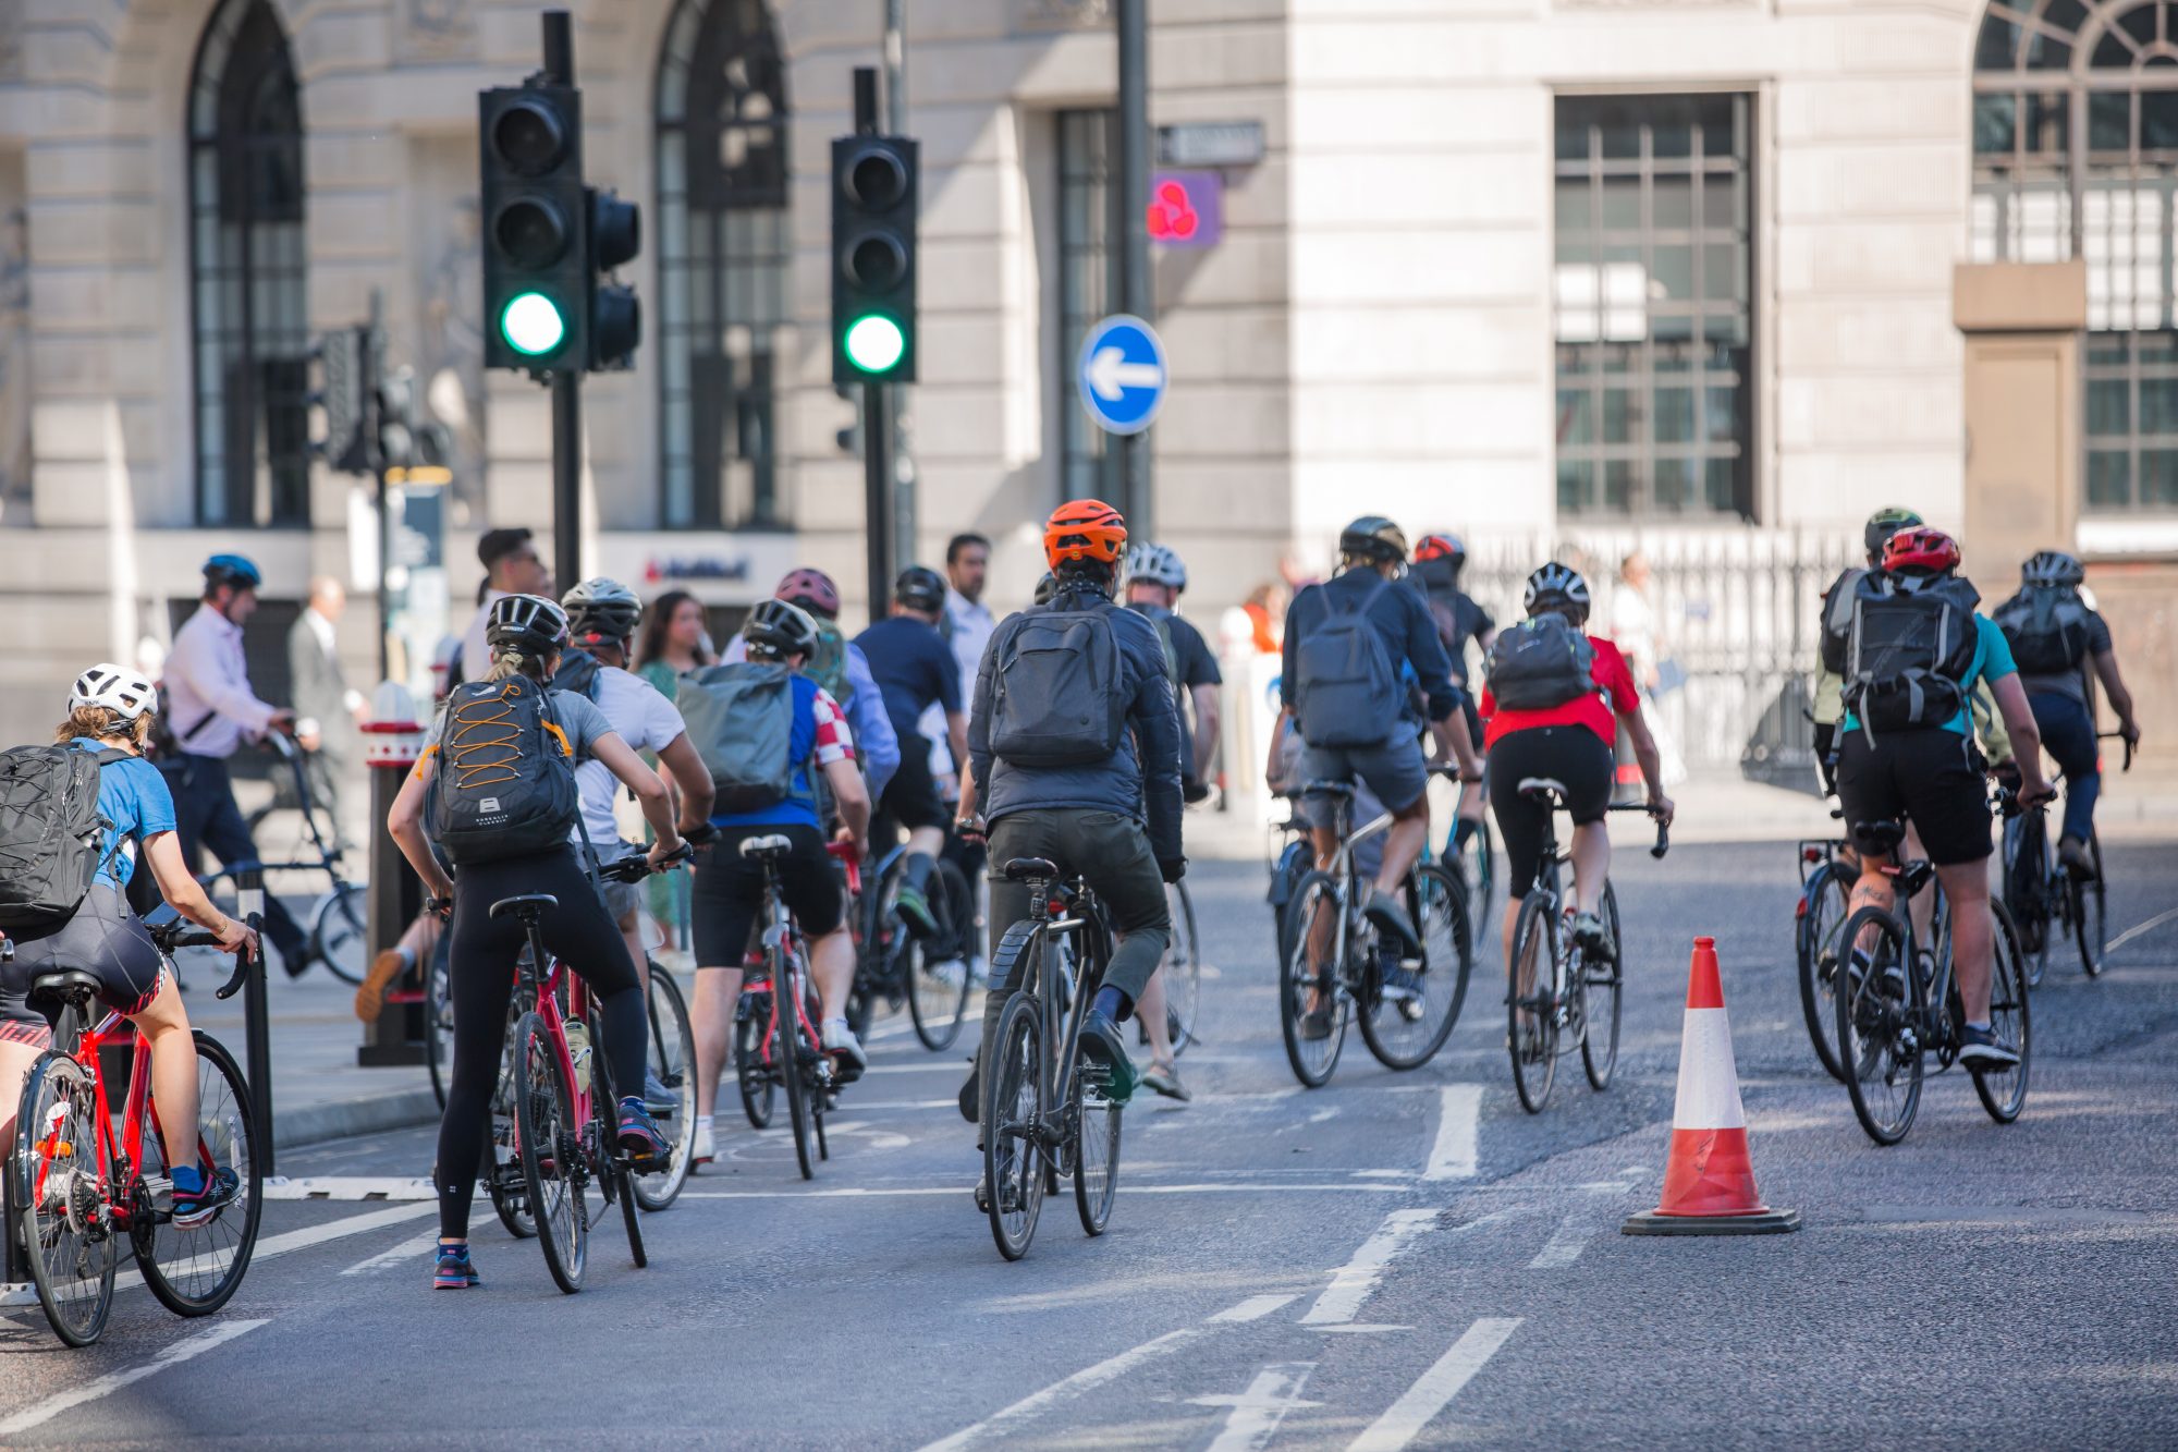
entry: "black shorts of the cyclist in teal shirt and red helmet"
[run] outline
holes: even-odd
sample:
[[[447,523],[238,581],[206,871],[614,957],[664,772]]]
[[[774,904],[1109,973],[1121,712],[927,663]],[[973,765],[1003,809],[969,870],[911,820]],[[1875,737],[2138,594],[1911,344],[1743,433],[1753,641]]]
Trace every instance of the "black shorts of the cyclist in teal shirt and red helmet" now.
[[[1973,741],[1943,726],[1919,730],[1849,730],[1838,748],[1838,804],[1864,848],[1860,828],[1910,820],[1938,868],[1989,857],[1989,787]]]

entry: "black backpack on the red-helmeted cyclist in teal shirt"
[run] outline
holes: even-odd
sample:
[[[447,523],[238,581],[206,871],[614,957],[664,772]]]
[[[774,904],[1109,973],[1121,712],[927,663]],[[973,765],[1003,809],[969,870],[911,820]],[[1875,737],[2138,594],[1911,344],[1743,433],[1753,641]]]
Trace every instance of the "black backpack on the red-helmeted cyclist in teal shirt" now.
[[[1919,589],[1882,571],[1853,582],[1853,626],[1845,654],[1845,709],[1860,728],[1943,726],[1967,704],[1967,674],[1980,648],[1965,580]]]

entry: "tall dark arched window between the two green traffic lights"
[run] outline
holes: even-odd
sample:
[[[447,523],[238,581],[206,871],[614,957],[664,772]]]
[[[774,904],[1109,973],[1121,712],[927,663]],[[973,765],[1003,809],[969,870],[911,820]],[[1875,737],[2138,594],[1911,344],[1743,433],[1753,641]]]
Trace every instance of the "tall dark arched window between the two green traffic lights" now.
[[[786,63],[760,0],[680,0],[658,57],[666,528],[780,528]]]

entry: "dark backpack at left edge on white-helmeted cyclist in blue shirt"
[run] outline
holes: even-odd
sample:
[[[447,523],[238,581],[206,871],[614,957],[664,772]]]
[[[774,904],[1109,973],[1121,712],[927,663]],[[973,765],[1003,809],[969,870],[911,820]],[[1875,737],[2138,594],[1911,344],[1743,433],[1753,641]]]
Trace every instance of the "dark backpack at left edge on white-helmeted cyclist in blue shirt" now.
[[[76,746],[0,752],[0,927],[46,929],[74,916],[113,831],[98,815],[98,767],[126,754]]]

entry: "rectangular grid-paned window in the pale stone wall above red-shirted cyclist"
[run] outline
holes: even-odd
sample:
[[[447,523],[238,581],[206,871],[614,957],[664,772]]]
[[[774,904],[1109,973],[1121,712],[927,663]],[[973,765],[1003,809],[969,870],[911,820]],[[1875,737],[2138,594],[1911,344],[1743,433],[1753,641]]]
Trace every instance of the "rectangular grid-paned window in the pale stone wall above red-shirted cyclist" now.
[[[1753,517],[1753,107],[1557,100],[1557,508]]]

